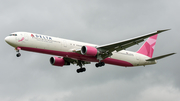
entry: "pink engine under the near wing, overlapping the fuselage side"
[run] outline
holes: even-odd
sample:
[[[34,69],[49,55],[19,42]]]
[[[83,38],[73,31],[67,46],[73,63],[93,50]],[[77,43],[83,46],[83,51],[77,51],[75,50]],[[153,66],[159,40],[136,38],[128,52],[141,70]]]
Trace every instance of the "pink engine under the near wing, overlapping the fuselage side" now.
[[[92,46],[82,46],[81,54],[88,56],[96,56],[98,54],[98,50]]]

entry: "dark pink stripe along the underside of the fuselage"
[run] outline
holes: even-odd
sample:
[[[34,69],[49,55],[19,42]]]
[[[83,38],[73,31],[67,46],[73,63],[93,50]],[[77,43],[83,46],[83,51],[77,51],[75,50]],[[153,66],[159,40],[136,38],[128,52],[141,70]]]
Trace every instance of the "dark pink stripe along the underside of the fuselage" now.
[[[26,50],[26,51],[69,57],[72,59],[77,59],[77,60],[82,60],[82,61],[99,62],[96,59],[96,57],[86,56],[86,55],[82,55],[82,54],[78,54],[78,53],[74,53],[74,52],[62,52],[62,51],[54,51],[54,50],[31,48],[31,47],[19,47],[19,48],[21,48],[22,50]],[[125,67],[132,67],[133,66],[129,62],[117,60],[117,59],[113,59],[113,58],[106,58],[103,60],[103,62],[105,62],[107,64],[113,64],[113,65],[125,66]]]

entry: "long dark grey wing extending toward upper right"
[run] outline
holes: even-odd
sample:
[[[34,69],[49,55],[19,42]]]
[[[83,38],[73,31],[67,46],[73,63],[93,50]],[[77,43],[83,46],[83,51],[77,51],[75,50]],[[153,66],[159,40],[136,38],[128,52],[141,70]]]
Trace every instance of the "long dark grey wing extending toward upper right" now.
[[[126,49],[133,45],[136,45],[136,44],[144,41],[144,39],[146,39],[148,37],[151,37],[153,35],[156,35],[161,32],[168,31],[168,30],[170,30],[170,29],[158,30],[156,32],[152,32],[152,33],[138,36],[135,38],[131,38],[131,39],[127,39],[127,40],[123,40],[123,41],[119,41],[119,42],[115,42],[115,43],[111,43],[111,44],[102,45],[102,46],[97,47],[97,49],[104,51],[105,53],[112,53],[115,50],[118,52],[120,50]]]

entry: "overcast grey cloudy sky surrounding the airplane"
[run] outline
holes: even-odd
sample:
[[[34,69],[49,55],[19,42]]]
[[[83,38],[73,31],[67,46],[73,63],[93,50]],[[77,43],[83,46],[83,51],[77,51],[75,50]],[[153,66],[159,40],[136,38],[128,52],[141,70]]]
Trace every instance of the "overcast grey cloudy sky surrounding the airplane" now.
[[[180,101],[179,54],[146,67],[92,63],[77,74],[76,65],[52,66],[51,55],[21,51],[17,58],[4,41],[26,31],[103,45],[170,28],[154,56],[180,53],[179,11],[179,0],[0,0],[0,100]]]

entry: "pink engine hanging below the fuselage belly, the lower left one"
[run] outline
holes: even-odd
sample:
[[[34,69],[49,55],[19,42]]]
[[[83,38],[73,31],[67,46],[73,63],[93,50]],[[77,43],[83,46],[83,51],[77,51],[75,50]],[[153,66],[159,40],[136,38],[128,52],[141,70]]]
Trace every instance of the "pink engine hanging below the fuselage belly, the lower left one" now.
[[[66,62],[63,58],[60,58],[60,57],[51,57],[50,63],[54,66],[70,65],[69,62]]]

